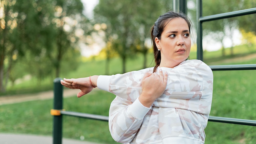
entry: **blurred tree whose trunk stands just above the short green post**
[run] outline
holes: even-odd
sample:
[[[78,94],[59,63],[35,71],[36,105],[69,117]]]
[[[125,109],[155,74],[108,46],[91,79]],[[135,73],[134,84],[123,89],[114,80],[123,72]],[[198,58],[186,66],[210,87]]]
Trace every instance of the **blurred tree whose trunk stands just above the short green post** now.
[[[46,10],[46,12],[42,11],[39,16],[44,29],[42,34],[44,35],[43,45],[46,49],[45,56],[49,58],[55,69],[55,77],[59,77],[64,54],[70,52],[69,49],[78,48],[76,42],[78,42],[79,36],[76,35],[76,31],[80,30],[81,33],[84,33],[80,23],[80,21],[86,19],[82,15],[83,4],[80,0],[48,0],[38,1],[38,7]],[[71,57],[72,66],[77,65],[79,57]],[[66,67],[69,66],[66,65]]]

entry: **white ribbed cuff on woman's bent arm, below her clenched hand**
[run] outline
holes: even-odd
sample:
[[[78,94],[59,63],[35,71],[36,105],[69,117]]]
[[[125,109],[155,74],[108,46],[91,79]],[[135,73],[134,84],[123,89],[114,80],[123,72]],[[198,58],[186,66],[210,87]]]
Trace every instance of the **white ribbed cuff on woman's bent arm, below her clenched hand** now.
[[[132,113],[135,118],[143,119],[144,116],[148,113],[148,111],[151,109],[151,107],[145,107],[142,105],[139,101],[139,99],[136,99],[132,105],[129,107],[130,112]]]

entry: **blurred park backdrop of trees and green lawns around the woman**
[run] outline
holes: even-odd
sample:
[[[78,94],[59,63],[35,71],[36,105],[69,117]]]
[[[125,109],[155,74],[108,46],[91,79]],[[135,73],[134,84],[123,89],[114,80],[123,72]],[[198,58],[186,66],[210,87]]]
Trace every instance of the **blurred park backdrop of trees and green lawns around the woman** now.
[[[153,67],[151,26],[159,15],[178,10],[176,2],[0,0],[0,97],[53,90],[56,77],[112,75]],[[203,16],[256,7],[255,0],[207,0],[202,4]],[[189,57],[196,59],[196,0],[187,0],[187,15],[193,23]],[[256,14],[250,14],[203,23],[204,62],[255,64],[255,20]],[[255,84],[253,70],[214,72],[211,115],[255,120]],[[64,100],[64,107],[108,115],[114,97],[100,91],[82,100],[74,95]],[[52,100],[0,105],[0,132],[51,135],[51,108]],[[114,143],[106,122],[64,121],[64,137]],[[209,122],[206,128],[206,143],[255,141],[255,127]]]

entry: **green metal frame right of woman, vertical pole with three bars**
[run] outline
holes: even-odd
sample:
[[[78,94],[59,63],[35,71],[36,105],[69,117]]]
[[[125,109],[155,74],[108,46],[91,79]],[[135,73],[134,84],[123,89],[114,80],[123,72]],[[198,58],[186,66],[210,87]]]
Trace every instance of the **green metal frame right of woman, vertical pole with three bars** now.
[[[217,15],[209,15],[202,17],[202,0],[196,0],[197,5],[197,59],[203,61],[203,29],[202,23],[205,21],[218,20],[223,18],[231,18],[241,15],[249,15],[256,13],[256,8],[238,10],[233,12],[226,12]],[[235,64],[235,65],[213,65],[209,66],[212,70],[255,70],[256,64]],[[248,126],[256,126],[256,121],[246,120],[246,119],[237,119],[237,118],[225,118],[217,116],[209,116],[208,121],[230,123],[230,124],[241,124]]]

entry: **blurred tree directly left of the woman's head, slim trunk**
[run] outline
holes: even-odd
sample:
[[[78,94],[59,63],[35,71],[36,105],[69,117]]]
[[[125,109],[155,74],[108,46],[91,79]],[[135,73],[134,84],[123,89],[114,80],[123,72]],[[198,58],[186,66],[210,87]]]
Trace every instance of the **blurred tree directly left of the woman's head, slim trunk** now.
[[[143,68],[146,68],[147,63],[147,53],[148,48],[151,48],[147,42],[150,42],[150,34],[151,34],[151,27],[154,25],[154,22],[157,20],[159,15],[169,11],[171,7],[165,6],[171,5],[170,1],[137,1],[136,2],[136,9],[134,10],[134,29],[136,29],[135,37],[133,37],[133,45],[135,52],[140,52],[143,54]],[[151,12],[154,10],[154,12]],[[146,41],[148,39],[148,41]]]

